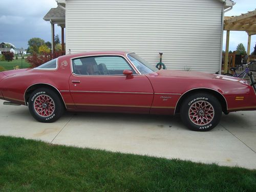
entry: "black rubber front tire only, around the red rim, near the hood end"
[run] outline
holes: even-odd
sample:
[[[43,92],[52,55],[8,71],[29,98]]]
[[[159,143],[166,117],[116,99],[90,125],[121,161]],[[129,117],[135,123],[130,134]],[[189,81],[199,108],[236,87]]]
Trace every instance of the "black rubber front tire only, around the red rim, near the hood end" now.
[[[193,121],[190,120],[188,111],[191,105],[193,105],[197,101],[207,101],[209,102],[212,107],[214,108],[214,118],[206,125],[197,125]],[[187,97],[181,106],[181,119],[183,123],[193,131],[209,131],[214,129],[216,125],[220,122],[221,115],[222,115],[222,107],[219,102],[219,100],[207,93],[198,93],[198,94],[193,94],[189,97]]]

